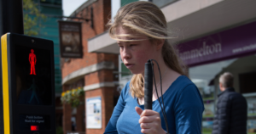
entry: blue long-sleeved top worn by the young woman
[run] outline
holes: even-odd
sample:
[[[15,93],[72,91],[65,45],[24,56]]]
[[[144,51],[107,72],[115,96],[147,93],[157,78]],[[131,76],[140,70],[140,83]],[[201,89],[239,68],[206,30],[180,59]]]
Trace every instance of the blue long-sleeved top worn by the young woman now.
[[[130,82],[122,90],[119,101],[113,109],[113,114],[106,127],[105,134],[141,134],[138,123],[140,116],[135,107],[144,109],[129,92]],[[204,110],[201,94],[195,84],[185,75],[181,75],[162,96],[166,108],[166,118],[170,134],[200,134],[201,119]],[[160,101],[161,98],[160,97]],[[155,100],[152,109],[160,113],[161,126],[166,131],[166,124],[160,109],[160,103]]]

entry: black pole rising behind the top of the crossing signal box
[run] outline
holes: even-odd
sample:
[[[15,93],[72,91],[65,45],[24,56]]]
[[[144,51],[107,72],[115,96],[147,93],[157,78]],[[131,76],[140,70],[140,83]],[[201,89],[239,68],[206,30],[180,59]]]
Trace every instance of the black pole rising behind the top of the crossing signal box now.
[[[0,0],[0,36],[24,34],[22,0]]]

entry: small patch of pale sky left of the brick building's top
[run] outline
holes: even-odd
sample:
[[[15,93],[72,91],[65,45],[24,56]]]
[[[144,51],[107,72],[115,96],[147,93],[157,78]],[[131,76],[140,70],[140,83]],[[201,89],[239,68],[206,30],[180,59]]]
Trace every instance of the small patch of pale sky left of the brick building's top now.
[[[62,0],[62,8],[64,16],[69,16],[73,11],[80,7],[87,0]]]

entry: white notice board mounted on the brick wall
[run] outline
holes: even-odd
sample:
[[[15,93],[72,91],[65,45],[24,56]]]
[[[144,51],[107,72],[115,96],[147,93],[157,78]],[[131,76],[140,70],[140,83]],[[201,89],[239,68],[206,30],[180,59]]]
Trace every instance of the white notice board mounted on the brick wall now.
[[[86,128],[102,128],[102,98],[86,99]]]

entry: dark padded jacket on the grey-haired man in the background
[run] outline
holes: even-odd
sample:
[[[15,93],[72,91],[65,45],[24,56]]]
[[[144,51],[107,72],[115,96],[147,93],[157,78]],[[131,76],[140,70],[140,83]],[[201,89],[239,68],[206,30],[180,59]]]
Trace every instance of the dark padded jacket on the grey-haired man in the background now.
[[[234,88],[227,88],[218,95],[212,134],[246,134],[247,100]]]

